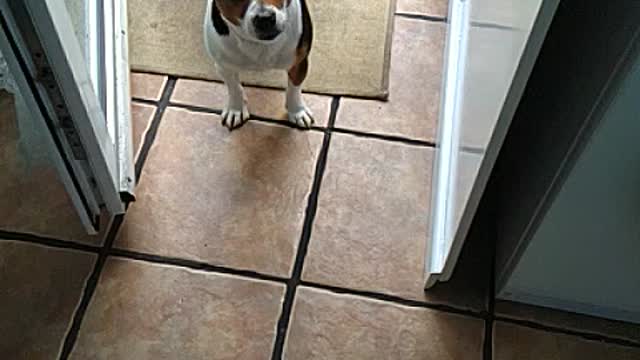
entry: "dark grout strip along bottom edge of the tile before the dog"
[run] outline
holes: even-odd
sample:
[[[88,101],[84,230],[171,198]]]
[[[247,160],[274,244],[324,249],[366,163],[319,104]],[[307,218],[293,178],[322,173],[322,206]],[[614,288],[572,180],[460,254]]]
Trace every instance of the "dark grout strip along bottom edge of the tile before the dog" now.
[[[125,250],[120,248],[111,249],[109,251],[109,255],[113,257],[122,258],[122,259],[138,260],[138,261],[150,262],[154,264],[171,265],[171,266],[188,268],[188,269],[199,270],[204,272],[236,275],[236,276],[251,278],[254,280],[274,281],[279,283],[286,283],[288,281],[287,278],[283,278],[275,275],[263,274],[263,273],[259,273],[257,271],[252,271],[252,270],[238,270],[238,269],[229,268],[225,266],[212,265],[212,264],[208,264],[200,261],[147,254],[147,253],[130,251],[130,250]]]

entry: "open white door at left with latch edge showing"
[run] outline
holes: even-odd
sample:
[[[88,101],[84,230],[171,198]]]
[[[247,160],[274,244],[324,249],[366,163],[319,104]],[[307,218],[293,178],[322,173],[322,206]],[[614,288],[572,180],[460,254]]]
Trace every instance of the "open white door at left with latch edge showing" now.
[[[124,0],[0,0],[0,58],[89,233],[135,185],[126,24]]]

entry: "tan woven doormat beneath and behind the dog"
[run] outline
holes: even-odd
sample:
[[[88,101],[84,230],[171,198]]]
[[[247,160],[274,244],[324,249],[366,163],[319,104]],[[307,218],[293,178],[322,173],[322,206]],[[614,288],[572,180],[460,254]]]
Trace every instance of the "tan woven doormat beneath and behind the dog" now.
[[[129,0],[129,60],[137,71],[220,80],[204,49],[211,0]],[[315,27],[307,91],[385,98],[395,0],[307,0]],[[246,73],[245,83],[284,87],[284,72]]]

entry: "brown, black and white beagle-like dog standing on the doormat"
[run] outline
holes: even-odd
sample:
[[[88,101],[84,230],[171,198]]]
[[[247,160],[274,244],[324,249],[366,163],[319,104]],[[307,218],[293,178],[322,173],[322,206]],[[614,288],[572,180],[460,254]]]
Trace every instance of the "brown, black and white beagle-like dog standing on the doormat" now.
[[[289,121],[309,128],[313,115],[302,99],[302,82],[309,68],[312,40],[313,25],[305,0],[209,0],[205,47],[228,91],[222,124],[232,130],[249,119],[240,71],[280,69],[289,75]]]

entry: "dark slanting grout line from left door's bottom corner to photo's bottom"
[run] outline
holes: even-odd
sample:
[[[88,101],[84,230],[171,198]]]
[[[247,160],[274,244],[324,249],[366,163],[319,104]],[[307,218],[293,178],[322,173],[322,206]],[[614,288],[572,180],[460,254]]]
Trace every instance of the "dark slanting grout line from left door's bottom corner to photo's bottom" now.
[[[80,333],[80,327],[82,326],[82,320],[84,319],[84,315],[87,312],[87,308],[91,303],[91,299],[93,298],[93,294],[95,294],[96,287],[98,286],[98,281],[100,280],[100,274],[102,273],[102,269],[107,261],[107,257],[109,256],[109,250],[113,246],[113,242],[118,235],[118,231],[120,230],[120,225],[124,220],[124,215],[117,215],[113,219],[113,223],[111,224],[111,228],[109,229],[109,233],[105,239],[104,246],[100,249],[100,254],[98,255],[98,260],[91,272],[91,275],[87,279],[87,282],[84,286],[84,291],[82,292],[82,298],[80,300],[80,304],[76,308],[76,311],[73,314],[73,320],[71,321],[71,327],[67,332],[64,343],[62,345],[62,351],[60,353],[60,360],[66,360],[71,355],[71,351],[78,339],[78,334]]]

